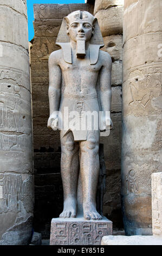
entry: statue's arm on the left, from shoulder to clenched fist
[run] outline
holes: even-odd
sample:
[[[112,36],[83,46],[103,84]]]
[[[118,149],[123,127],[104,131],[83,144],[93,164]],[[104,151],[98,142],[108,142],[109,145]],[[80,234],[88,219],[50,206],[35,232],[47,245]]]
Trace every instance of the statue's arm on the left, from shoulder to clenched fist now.
[[[60,52],[53,52],[50,54],[48,60],[49,67],[49,112],[50,117],[48,119],[48,128],[57,130],[58,125],[58,115],[61,99],[61,69],[59,66],[59,56]]]

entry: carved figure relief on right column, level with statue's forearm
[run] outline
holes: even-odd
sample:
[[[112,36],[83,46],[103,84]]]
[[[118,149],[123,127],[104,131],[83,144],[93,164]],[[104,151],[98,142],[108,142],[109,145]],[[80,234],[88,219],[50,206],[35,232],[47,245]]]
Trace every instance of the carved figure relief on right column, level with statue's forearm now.
[[[127,90],[128,94],[124,106],[125,114],[144,116],[160,111],[160,105],[155,98],[162,95],[161,81],[162,65],[159,63],[145,64],[139,66],[138,70],[129,70],[128,80],[123,84],[123,92]]]

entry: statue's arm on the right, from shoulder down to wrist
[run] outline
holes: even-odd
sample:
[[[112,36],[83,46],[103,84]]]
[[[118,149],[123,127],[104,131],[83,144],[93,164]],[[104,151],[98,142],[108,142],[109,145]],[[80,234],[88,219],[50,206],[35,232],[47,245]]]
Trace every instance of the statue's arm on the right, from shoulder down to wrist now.
[[[107,52],[101,51],[102,68],[100,70],[100,103],[102,111],[111,111],[112,89],[112,59]],[[111,121],[112,126],[112,121]]]

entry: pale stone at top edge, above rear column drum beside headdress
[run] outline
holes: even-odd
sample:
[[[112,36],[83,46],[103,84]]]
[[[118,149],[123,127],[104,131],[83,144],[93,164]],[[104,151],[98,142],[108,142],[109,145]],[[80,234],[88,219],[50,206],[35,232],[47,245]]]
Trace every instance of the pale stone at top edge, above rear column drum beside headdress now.
[[[111,7],[124,5],[124,0],[95,0],[94,14],[100,10],[106,10]]]

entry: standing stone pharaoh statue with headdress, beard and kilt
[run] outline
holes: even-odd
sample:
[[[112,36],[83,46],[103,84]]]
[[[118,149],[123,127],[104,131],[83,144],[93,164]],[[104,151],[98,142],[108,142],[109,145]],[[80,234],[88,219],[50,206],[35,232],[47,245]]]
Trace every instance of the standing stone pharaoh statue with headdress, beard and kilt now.
[[[76,129],[76,124],[82,124],[87,113],[110,112],[112,60],[107,52],[100,51],[104,44],[98,21],[87,11],[64,17],[56,44],[61,49],[49,57],[48,127],[60,130],[64,196],[60,217],[76,217],[77,193],[82,193],[84,218],[101,220],[96,211],[100,131],[108,130],[112,121],[103,115],[102,129],[96,129],[94,123],[91,129]],[[68,113],[77,112],[73,124],[67,108]],[[100,123],[99,118],[96,123]],[[79,176],[82,191],[77,189]]]

